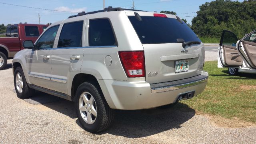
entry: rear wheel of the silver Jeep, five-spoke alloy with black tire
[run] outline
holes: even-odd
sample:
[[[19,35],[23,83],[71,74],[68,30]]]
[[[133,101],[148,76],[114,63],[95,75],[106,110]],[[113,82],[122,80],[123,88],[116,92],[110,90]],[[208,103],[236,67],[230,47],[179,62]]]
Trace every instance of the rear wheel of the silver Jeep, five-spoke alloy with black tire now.
[[[88,132],[101,132],[108,128],[114,118],[101,90],[94,84],[84,82],[76,91],[76,114],[82,127]]]

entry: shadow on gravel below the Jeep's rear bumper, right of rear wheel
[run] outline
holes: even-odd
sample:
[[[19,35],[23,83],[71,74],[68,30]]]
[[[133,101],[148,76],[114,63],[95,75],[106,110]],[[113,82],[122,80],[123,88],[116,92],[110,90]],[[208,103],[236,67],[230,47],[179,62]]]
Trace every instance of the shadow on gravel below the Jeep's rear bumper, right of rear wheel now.
[[[127,138],[151,136],[181,128],[181,124],[194,115],[195,110],[182,103],[168,109],[116,110],[112,127],[102,134],[109,133]]]

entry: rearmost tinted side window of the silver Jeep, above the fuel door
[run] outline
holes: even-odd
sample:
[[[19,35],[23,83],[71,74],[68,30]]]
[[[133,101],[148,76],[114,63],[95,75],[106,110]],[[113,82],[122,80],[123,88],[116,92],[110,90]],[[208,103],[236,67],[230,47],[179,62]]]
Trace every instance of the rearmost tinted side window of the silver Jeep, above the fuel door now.
[[[90,20],[89,25],[89,46],[116,46],[108,19]]]

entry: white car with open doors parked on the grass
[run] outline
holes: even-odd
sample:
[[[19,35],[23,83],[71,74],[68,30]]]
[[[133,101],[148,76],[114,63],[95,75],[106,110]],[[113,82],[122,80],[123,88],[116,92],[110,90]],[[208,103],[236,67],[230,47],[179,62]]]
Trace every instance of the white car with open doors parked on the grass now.
[[[238,72],[256,74],[256,30],[240,40],[233,32],[222,32],[218,48],[218,68],[223,67],[228,67],[231,75]]]

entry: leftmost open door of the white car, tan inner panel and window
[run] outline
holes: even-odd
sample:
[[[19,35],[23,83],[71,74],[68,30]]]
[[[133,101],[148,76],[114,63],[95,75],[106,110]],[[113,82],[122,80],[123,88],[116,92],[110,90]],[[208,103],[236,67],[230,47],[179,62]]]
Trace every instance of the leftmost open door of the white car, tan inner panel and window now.
[[[243,59],[236,47],[237,42],[238,38],[233,32],[223,30],[218,47],[218,68],[236,68],[243,64]]]

